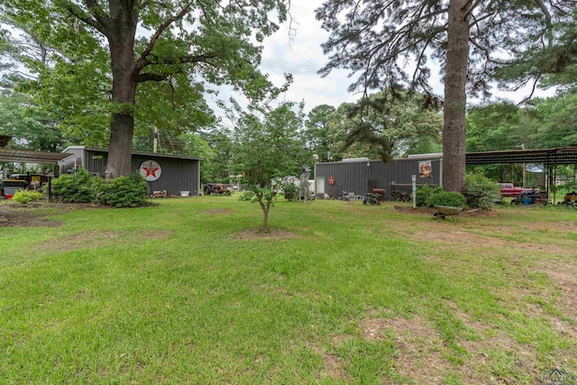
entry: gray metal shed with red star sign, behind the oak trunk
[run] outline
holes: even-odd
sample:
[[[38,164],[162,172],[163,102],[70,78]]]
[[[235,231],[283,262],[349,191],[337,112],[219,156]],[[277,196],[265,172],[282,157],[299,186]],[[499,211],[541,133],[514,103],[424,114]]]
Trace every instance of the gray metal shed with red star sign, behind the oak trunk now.
[[[83,168],[88,172],[105,176],[108,150],[86,146],[70,146],[62,152],[74,154],[59,162],[60,174]],[[200,189],[200,161],[202,158],[172,154],[133,151],[131,168],[139,171],[143,162],[153,160],[160,166],[160,177],[149,181],[151,191],[166,190],[168,195],[180,195],[188,191],[191,196],[197,196]]]

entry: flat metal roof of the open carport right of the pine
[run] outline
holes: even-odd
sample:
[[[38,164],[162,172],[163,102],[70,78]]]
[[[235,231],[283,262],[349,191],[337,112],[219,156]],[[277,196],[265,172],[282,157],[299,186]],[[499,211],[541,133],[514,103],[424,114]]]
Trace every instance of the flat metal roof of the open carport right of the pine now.
[[[510,150],[467,152],[467,164],[501,164],[501,163],[545,163],[576,164],[577,147],[564,147],[547,150]]]

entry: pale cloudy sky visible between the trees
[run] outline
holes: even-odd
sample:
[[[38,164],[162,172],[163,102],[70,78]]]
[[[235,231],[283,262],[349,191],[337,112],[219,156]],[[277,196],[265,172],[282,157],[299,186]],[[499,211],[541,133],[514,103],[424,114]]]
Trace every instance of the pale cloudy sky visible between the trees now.
[[[295,34],[289,38],[289,23],[280,25],[278,32],[264,41],[261,71],[268,73],[275,85],[284,83],[284,74],[291,73],[294,83],[283,96],[292,102],[305,101],[305,112],[316,105],[333,105],[337,107],[345,102],[354,102],[361,94],[351,93],[347,88],[353,83],[346,70],[333,70],[326,78],[321,78],[317,71],[323,68],[328,60],[321,48],[321,43],[328,38],[328,32],[316,21],[315,10],[323,4],[323,0],[292,0],[290,13],[293,16]],[[353,77],[356,75],[353,75]],[[432,71],[430,84],[439,96],[443,96],[443,84],[438,73]],[[529,94],[526,92],[494,93],[513,102],[520,102]],[[540,96],[552,96],[553,92],[540,93]],[[220,95],[219,98],[223,98]],[[235,96],[242,100],[241,96]],[[479,100],[470,99],[470,104]]]

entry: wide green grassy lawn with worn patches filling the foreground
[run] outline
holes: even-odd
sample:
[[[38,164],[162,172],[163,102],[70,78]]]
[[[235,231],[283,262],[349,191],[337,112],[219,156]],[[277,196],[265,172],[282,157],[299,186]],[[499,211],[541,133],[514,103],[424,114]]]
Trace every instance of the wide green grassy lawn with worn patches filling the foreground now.
[[[281,199],[260,237],[260,208],[237,197],[155,202],[18,208],[49,216],[1,228],[1,383],[577,374],[575,210],[435,221],[392,203]]]

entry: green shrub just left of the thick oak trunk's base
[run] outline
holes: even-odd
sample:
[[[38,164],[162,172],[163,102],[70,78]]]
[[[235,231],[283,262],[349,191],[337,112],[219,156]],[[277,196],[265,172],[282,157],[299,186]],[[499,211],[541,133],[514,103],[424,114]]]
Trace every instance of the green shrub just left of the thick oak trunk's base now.
[[[91,177],[87,170],[80,169],[75,174],[64,174],[54,179],[52,195],[66,203],[96,202],[102,183],[102,179]]]

